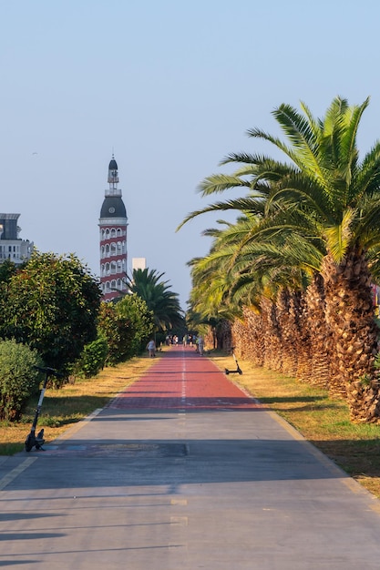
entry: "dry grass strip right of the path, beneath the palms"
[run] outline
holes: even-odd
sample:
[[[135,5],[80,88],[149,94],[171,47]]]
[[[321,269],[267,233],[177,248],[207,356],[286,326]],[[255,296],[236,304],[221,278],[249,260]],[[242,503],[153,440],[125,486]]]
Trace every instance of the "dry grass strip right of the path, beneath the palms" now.
[[[224,371],[236,366],[231,356],[210,355]],[[296,382],[250,361],[239,361],[242,375],[229,376],[262,404],[281,415],[318,449],[380,498],[380,425],[353,424],[348,407],[316,386]]]

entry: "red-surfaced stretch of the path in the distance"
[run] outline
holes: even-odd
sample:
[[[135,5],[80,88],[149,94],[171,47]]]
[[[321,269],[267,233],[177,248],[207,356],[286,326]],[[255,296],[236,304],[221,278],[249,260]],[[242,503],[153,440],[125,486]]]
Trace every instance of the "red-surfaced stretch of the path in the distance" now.
[[[109,406],[118,410],[249,410],[260,404],[212,361],[190,347],[172,346]]]

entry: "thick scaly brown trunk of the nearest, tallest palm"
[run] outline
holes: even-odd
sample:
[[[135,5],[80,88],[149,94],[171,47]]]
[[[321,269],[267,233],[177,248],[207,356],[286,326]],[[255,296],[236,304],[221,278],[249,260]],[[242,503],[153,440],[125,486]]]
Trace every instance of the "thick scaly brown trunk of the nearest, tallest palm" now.
[[[331,332],[331,391],[345,393],[354,421],[374,422],[380,415],[373,382],[378,328],[365,253],[353,248],[340,265],[327,255],[322,274]]]

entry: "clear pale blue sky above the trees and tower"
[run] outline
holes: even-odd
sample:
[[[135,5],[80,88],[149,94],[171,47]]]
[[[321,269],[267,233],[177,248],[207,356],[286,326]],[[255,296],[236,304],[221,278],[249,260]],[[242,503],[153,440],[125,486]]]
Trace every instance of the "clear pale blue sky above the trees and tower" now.
[[[362,153],[380,137],[379,22],[378,0],[0,0],[0,211],[98,275],[114,152],[129,268],[145,257],[186,308],[216,218],[175,229],[213,201],[196,188],[221,158],[268,150],[248,128],[277,133],[283,102],[320,117],[370,96]]]

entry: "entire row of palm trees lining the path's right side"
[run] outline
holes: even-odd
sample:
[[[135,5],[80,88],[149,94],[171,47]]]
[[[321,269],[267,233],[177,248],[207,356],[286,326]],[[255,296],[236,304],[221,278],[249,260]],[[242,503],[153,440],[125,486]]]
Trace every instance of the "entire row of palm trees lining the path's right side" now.
[[[286,352],[289,361],[294,353],[300,370],[309,367],[300,376],[317,372],[347,398],[353,419],[366,422],[380,414],[372,299],[380,276],[380,143],[363,159],[357,146],[368,103],[349,106],[335,97],[322,119],[303,103],[301,111],[282,104],[272,114],[283,138],[259,128],[248,135],[283,159],[230,154],[221,165],[234,171],[205,178],[200,192],[241,188],[243,197],[192,212],[181,224],[211,211],[239,214],[235,223],[220,221],[204,232],[211,250],[190,261],[191,309],[234,322],[235,333],[237,319],[246,325],[251,314],[256,331],[248,337],[257,339],[257,354],[276,337],[277,357],[285,361]]]

